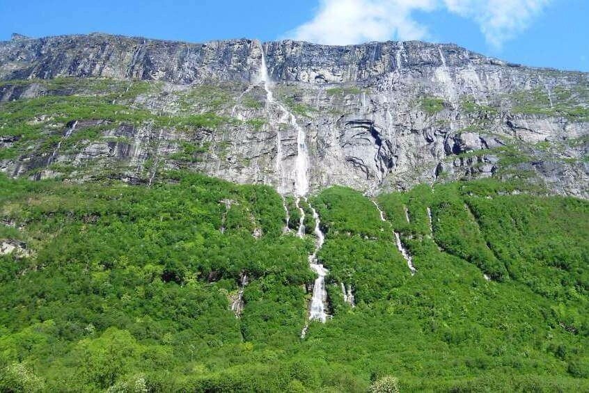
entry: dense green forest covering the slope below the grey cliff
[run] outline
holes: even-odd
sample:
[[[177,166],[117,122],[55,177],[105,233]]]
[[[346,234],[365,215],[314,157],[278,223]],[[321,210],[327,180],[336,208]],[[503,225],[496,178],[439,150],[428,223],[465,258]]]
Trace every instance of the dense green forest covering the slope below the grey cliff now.
[[[285,231],[271,187],[0,176],[0,391],[589,391],[588,202],[494,179],[309,202],[332,318],[301,339],[315,223]]]

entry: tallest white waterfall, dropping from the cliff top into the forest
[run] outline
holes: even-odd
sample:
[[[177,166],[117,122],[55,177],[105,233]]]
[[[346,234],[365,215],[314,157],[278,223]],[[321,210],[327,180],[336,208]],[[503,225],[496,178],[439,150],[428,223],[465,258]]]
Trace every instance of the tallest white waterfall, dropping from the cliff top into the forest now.
[[[313,233],[315,234],[316,241],[315,241],[315,249],[313,253],[309,255],[308,262],[311,270],[317,273],[317,278],[313,284],[313,297],[311,299],[311,307],[309,310],[309,320],[317,320],[325,322],[327,320],[327,313],[325,312],[325,304],[327,303],[327,290],[325,289],[325,276],[327,273],[326,268],[323,267],[322,264],[317,262],[317,252],[322,248],[323,243],[325,241],[325,236],[321,231],[321,220],[319,218],[319,214],[311,203],[308,202],[306,199],[306,195],[309,191],[309,178],[308,178],[308,169],[309,169],[309,154],[308,154],[308,147],[306,143],[306,133],[303,127],[299,125],[297,122],[297,118],[294,116],[292,112],[290,112],[283,104],[276,101],[274,99],[274,94],[272,93],[272,81],[269,76],[267,64],[266,64],[266,56],[264,53],[264,47],[260,45],[262,48],[262,65],[260,67],[260,82],[264,83],[264,89],[266,90],[266,99],[268,106],[276,106],[279,111],[282,113],[281,119],[288,119],[290,125],[297,131],[297,159],[294,165],[294,196],[297,198],[295,204],[301,213],[301,219],[299,221],[299,230],[297,234],[302,238],[305,235],[305,211],[301,207],[301,198],[307,202],[309,209],[313,214],[313,218],[315,218],[315,228]],[[280,140],[280,131],[277,131],[277,141],[276,141],[276,174],[279,177],[280,185],[278,186],[278,192],[283,194],[285,193],[285,173],[283,169],[283,154],[282,154],[282,146]],[[301,337],[304,337],[308,326],[305,326],[303,332],[301,333]]]

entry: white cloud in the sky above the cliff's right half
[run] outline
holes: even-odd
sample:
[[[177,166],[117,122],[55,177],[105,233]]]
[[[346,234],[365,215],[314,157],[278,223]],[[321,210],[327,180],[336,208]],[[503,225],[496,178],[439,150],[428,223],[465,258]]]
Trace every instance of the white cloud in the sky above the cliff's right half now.
[[[552,0],[320,0],[313,19],[288,35],[331,45],[379,40],[421,40],[427,26],[414,19],[414,11],[446,8],[473,19],[487,42],[503,42],[526,29]]]

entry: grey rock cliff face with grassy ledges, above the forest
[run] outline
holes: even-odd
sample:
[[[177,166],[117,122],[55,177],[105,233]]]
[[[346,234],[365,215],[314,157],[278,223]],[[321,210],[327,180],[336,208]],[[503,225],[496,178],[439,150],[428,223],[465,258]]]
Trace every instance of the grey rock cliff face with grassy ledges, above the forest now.
[[[262,56],[287,112],[268,105]],[[17,150],[0,155],[11,176],[88,179],[109,170],[151,184],[161,170],[190,168],[273,186],[286,177],[281,190],[292,193],[297,130],[285,117],[292,113],[307,136],[313,190],[517,176],[589,197],[589,74],[512,65],[455,45],[17,36],[0,43],[0,80],[0,102],[98,96],[116,113],[120,106],[148,113],[134,122],[78,116],[74,129],[56,113],[38,113],[27,124],[63,142],[45,152],[42,138],[27,141],[18,127],[1,127],[0,149]],[[95,84],[80,88],[79,81]],[[126,91],[104,90],[104,81]],[[129,93],[141,81],[149,88]],[[224,120],[179,126],[212,113]],[[100,132],[82,138],[88,129]]]

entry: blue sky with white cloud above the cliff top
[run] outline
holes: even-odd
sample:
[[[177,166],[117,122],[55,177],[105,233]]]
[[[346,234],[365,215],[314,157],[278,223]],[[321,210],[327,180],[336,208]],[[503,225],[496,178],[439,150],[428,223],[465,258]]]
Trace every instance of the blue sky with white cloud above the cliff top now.
[[[422,39],[506,61],[589,71],[587,0],[0,0],[0,40],[101,31],[202,42]]]

